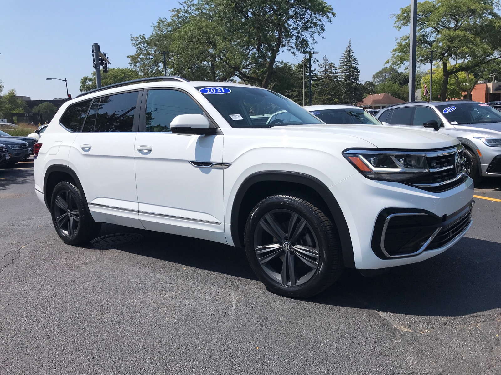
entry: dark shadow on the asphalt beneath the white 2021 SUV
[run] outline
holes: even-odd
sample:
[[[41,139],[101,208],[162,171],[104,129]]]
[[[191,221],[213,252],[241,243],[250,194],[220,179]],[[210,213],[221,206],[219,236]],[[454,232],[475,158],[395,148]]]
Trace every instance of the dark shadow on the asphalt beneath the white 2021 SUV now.
[[[148,230],[103,224],[100,236],[136,232],[141,242],[122,251],[232,276],[257,279],[241,248]],[[346,269],[331,287],[308,301],[407,315],[460,316],[501,307],[501,244],[462,238],[425,261],[364,277]]]

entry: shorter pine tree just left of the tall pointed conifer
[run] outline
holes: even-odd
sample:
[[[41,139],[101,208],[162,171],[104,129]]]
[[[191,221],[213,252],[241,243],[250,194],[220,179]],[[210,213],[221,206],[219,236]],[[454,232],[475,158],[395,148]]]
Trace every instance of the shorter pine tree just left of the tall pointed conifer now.
[[[324,56],[322,62],[318,64],[319,72],[315,84],[315,95],[312,104],[338,104],[342,101],[342,92],[340,90],[338,68],[334,62],[330,62],[327,56]]]

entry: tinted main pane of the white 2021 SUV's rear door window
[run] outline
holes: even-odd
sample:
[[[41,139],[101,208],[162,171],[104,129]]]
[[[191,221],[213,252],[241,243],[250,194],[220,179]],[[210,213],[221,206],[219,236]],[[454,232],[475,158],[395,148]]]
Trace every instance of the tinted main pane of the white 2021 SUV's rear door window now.
[[[132,131],[138,91],[103,96],[94,131]]]

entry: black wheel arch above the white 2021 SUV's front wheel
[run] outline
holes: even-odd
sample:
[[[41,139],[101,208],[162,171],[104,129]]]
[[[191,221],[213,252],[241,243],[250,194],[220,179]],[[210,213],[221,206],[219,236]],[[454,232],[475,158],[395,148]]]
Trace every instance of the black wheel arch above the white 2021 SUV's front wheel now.
[[[285,184],[287,184],[287,186],[291,186],[292,184],[293,187],[303,186],[306,192],[315,192],[317,197],[323,201],[325,207],[329,211],[326,212],[326,214],[330,215],[334,220],[334,224],[339,233],[344,265],[348,268],[355,268],[350,231],[338,201],[321,180],[305,173],[262,171],[249,175],[242,182],[238,187],[231,206],[230,228],[234,245],[243,247],[243,230],[250,210],[252,210],[261,199],[269,196],[268,194],[270,192],[279,193],[281,191],[291,190],[291,187],[284,188],[284,186],[286,186]],[[257,190],[257,188],[263,186],[269,186],[270,190]],[[258,198],[260,199],[255,201]]]

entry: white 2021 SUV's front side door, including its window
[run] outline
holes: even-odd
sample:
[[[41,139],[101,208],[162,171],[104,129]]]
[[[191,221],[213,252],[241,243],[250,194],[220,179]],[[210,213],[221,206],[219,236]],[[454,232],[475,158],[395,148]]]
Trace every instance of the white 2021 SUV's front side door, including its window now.
[[[144,99],[144,124],[134,147],[141,223],[150,230],[226,243],[223,135],[170,131],[178,114],[204,114],[183,91],[150,89]]]

